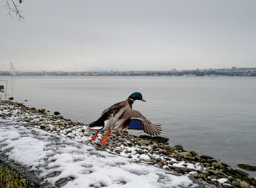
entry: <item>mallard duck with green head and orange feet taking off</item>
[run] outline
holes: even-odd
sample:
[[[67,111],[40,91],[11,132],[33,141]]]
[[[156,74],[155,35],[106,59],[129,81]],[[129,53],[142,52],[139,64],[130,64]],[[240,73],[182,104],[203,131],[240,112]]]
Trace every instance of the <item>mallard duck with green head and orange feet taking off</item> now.
[[[134,101],[140,100],[146,102],[141,93],[135,92],[129,95],[127,100],[115,103],[108,109],[102,111],[101,117],[95,122],[89,124],[89,128],[97,130],[90,141],[94,141],[99,130],[108,130],[108,134],[102,138],[101,144],[105,144],[108,136],[113,129],[117,130],[143,130],[151,136],[157,136],[161,132],[160,125],[151,123],[140,111],[132,110]]]

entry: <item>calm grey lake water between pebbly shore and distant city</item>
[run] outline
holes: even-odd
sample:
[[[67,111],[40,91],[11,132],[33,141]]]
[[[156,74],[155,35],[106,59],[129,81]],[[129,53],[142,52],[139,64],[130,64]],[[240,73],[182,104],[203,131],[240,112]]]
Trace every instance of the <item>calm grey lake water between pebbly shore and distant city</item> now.
[[[93,122],[108,106],[139,91],[133,109],[162,125],[170,145],[211,155],[234,168],[256,165],[255,77],[0,77],[7,98]],[[0,81],[0,85],[3,84]],[[4,99],[4,93],[1,93]],[[27,99],[27,102],[24,100]],[[256,176],[256,173],[250,173]]]

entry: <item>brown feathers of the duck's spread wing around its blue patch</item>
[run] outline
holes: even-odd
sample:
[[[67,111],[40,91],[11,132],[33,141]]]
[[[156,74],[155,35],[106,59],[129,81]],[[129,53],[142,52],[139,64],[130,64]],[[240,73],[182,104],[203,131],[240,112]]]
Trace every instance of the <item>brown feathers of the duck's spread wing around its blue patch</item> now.
[[[122,119],[116,122],[115,128],[120,130],[127,130],[130,120],[136,118],[143,122],[145,133],[151,136],[157,136],[161,133],[161,125],[155,125],[151,123],[149,120],[146,119],[146,117],[143,116],[143,114],[140,114],[140,111],[132,109],[125,111]]]

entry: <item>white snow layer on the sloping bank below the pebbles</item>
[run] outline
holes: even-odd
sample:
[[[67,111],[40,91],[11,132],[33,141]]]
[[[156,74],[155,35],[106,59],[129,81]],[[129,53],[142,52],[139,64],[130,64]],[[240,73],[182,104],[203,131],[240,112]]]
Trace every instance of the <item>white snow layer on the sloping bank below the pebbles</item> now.
[[[0,139],[1,153],[29,166],[25,173],[34,171],[43,187],[202,186],[187,176],[135,163],[127,157],[54,136],[23,123],[0,119]]]

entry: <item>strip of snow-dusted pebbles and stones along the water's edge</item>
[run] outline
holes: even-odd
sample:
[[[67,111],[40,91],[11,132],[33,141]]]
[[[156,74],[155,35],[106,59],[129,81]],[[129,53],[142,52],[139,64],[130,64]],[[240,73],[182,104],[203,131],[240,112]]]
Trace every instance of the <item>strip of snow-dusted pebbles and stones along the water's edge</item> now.
[[[217,187],[255,187],[256,179],[247,173],[233,169],[213,157],[188,152],[183,146],[169,146],[167,138],[150,136],[131,136],[127,132],[112,131],[104,146],[100,139],[105,133],[99,133],[90,143],[94,131],[81,122],[72,122],[64,117],[47,114],[45,109],[24,106],[23,103],[0,101],[0,118],[15,122],[29,122],[34,128],[64,136],[80,143],[91,144],[97,149],[142,161],[167,171],[193,176]]]

